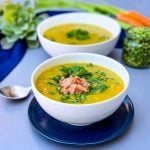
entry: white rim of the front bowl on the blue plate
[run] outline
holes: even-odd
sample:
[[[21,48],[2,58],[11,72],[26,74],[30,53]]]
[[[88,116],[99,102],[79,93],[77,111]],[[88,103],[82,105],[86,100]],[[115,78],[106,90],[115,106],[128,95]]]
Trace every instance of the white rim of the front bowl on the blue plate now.
[[[100,56],[100,57],[103,57],[104,59],[107,59],[108,61],[111,61],[111,62],[116,63],[117,65],[119,65],[119,67],[121,67],[121,68],[126,72],[127,79],[128,79],[128,80],[126,81],[126,83],[124,83],[124,89],[123,89],[120,93],[118,93],[117,95],[115,95],[115,96],[113,96],[113,97],[111,97],[111,98],[108,98],[108,99],[106,99],[106,100],[104,100],[104,101],[95,102],[95,103],[90,103],[90,104],[63,103],[63,102],[56,101],[56,100],[53,100],[53,99],[51,99],[51,98],[48,98],[47,96],[45,96],[45,95],[43,95],[41,92],[39,92],[39,90],[38,90],[38,89],[36,88],[36,86],[35,86],[35,81],[34,81],[34,77],[35,77],[35,75],[36,75],[36,72],[37,72],[38,70],[40,70],[44,65],[46,65],[46,64],[47,64],[48,62],[50,62],[50,61],[54,61],[54,60],[57,60],[57,59],[61,59],[61,58],[63,58],[63,57],[69,57],[69,56],[74,56],[74,55],[83,55],[83,56],[85,56],[85,55],[93,55],[93,56],[96,56],[96,57],[97,57],[97,56]],[[104,66],[104,67],[105,67],[105,66]],[[48,67],[46,67],[46,68],[48,68]],[[44,70],[46,70],[46,68],[45,68]],[[108,67],[106,67],[106,68],[108,68]],[[111,68],[108,68],[108,69],[110,69],[110,70],[112,71]],[[114,72],[115,72],[115,71],[114,71]],[[116,72],[115,72],[115,73],[116,73]],[[118,73],[117,73],[117,74],[118,74]],[[39,76],[39,75],[38,75],[38,76]],[[123,82],[125,82],[125,81],[124,81],[124,78],[123,78],[123,77],[121,77],[121,78],[122,78]],[[52,57],[52,58],[50,58],[50,59],[48,59],[48,60],[42,62],[41,64],[39,64],[39,65],[34,69],[34,71],[33,71],[33,73],[32,73],[32,76],[31,76],[31,87],[32,87],[33,91],[35,90],[36,92],[38,92],[38,94],[40,94],[40,96],[44,97],[44,99],[46,99],[46,100],[49,100],[49,101],[51,101],[51,102],[53,102],[53,103],[57,103],[57,104],[59,104],[59,105],[70,106],[70,107],[90,107],[90,106],[100,105],[100,104],[107,103],[107,102],[109,102],[109,101],[115,100],[117,97],[119,97],[121,94],[123,94],[123,93],[127,90],[128,86],[129,86],[129,82],[130,82],[129,73],[128,73],[128,71],[126,70],[126,68],[125,68],[122,64],[120,64],[119,62],[117,62],[116,60],[114,60],[114,59],[112,59],[112,58],[110,58],[110,57],[107,57],[107,56],[104,56],[104,55],[99,55],[99,54],[90,54],[90,53],[70,53],[70,54],[64,54],[64,55],[59,55],[59,56],[56,56],[56,57]],[[33,92],[33,93],[34,93],[34,92]]]

